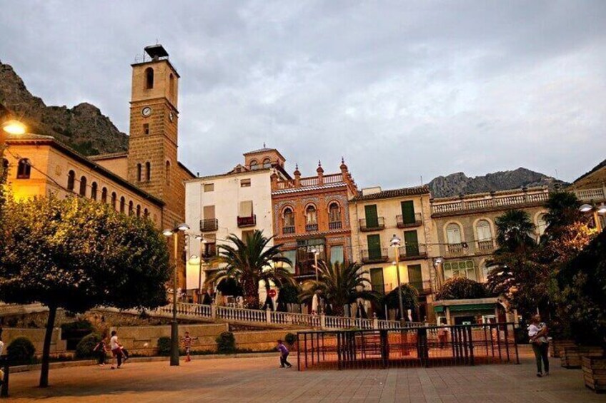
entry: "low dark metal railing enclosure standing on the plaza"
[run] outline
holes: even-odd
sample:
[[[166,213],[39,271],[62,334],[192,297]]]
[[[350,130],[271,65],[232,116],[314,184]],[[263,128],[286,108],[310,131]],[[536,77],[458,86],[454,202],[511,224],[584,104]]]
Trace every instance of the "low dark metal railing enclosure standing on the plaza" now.
[[[513,323],[297,333],[297,368],[520,363]]]

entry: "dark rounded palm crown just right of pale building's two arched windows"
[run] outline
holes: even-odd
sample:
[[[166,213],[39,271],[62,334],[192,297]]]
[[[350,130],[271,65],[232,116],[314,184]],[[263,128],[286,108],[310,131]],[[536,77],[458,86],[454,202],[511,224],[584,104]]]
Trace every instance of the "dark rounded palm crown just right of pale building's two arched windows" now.
[[[508,210],[495,220],[497,225],[497,252],[516,252],[536,245],[532,238],[535,224],[523,210]]]

